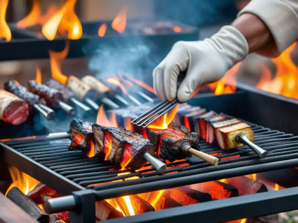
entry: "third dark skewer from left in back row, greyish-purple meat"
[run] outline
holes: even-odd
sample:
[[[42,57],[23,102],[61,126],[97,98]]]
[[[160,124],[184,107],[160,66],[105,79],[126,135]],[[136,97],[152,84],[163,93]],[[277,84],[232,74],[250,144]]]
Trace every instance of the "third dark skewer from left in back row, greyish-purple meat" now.
[[[84,105],[82,102],[77,100],[77,95],[75,94],[75,92],[72,92],[71,90],[69,90],[65,85],[61,84],[59,81],[51,79],[46,82],[46,85],[60,91],[63,98],[63,102],[67,104],[72,102],[86,112],[91,110],[88,106]]]

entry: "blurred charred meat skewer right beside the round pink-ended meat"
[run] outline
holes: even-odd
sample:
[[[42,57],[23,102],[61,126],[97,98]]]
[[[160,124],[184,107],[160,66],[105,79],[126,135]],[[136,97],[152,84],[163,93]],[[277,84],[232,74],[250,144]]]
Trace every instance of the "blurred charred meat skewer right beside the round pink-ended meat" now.
[[[46,119],[52,120],[55,117],[55,112],[48,106],[44,105],[45,102],[40,97],[32,92],[28,91],[26,87],[22,86],[18,81],[9,80],[4,84],[5,90],[15,94],[19,98],[25,100],[29,105],[29,111],[33,112],[37,110]]]

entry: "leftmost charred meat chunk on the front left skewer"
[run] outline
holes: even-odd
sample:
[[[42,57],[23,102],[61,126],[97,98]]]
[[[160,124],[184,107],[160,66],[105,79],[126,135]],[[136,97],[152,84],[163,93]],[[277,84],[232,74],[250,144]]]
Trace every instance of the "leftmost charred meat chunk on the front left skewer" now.
[[[71,121],[69,130],[67,131],[71,140],[69,145],[70,150],[83,150],[88,156],[89,151],[93,149],[92,145],[94,145],[92,124],[78,118],[74,118]]]

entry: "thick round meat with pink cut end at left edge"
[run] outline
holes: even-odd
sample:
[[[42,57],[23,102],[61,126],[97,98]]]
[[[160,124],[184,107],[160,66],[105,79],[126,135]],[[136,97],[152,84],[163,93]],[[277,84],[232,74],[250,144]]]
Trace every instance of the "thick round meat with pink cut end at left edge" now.
[[[0,89],[0,120],[12,125],[24,123],[29,116],[29,106],[23,99]]]

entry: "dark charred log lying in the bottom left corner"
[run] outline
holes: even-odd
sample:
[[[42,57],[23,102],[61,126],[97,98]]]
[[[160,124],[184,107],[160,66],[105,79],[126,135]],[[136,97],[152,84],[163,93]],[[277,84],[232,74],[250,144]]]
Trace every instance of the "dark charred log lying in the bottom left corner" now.
[[[13,187],[8,191],[7,197],[15,202],[20,208],[27,212],[33,219],[38,222],[48,223],[49,216],[42,211],[38,205],[32,201],[29,197],[23,194],[18,188]]]

